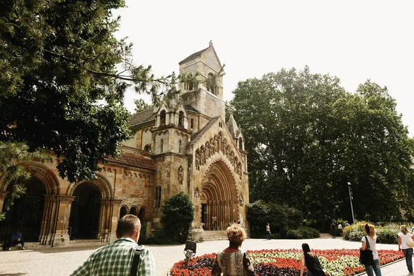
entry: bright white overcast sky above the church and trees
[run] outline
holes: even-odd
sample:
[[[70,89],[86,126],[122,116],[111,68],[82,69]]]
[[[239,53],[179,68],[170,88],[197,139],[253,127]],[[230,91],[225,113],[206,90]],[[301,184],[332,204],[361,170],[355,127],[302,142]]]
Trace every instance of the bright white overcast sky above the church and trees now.
[[[414,134],[414,1],[126,0],[117,38],[134,43],[136,64],[156,76],[213,46],[226,64],[224,100],[239,81],[282,68],[329,74],[355,92],[366,79],[386,86]],[[132,90],[124,104],[133,112]],[[148,97],[144,97],[149,102]]]

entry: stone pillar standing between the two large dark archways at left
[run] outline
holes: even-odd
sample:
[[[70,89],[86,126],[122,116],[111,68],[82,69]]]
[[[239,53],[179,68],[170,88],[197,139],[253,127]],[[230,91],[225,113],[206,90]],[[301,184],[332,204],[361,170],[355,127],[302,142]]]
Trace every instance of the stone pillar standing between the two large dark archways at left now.
[[[71,195],[57,195],[57,204],[59,204],[57,210],[57,219],[55,224],[55,230],[51,237],[52,247],[65,247],[69,244],[69,219],[70,219],[70,208],[72,207],[72,201],[75,197]]]

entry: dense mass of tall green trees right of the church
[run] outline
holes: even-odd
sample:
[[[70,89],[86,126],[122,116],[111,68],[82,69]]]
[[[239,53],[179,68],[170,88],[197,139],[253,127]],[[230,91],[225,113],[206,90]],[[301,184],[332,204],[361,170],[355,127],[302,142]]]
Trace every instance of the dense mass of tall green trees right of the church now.
[[[234,94],[250,200],[288,204],[324,224],[350,217],[350,181],[357,218],[393,219],[404,208],[412,140],[386,88],[367,81],[348,93],[306,67],[241,81]]]

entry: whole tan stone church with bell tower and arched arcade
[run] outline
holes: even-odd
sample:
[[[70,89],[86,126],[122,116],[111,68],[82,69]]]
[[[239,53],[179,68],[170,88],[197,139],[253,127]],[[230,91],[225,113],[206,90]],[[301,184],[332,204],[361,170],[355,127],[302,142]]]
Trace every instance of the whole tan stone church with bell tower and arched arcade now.
[[[222,66],[208,48],[179,62],[180,73],[216,75]],[[226,121],[222,77],[217,86],[181,83],[181,95],[159,108],[132,115],[132,139],[123,154],[108,157],[95,179],[70,184],[57,172],[59,159],[23,166],[32,178],[0,222],[0,243],[21,229],[31,246],[80,246],[113,242],[119,217],[132,213],[146,235],[162,228],[161,207],[183,190],[195,207],[194,239],[237,221],[248,228],[247,152],[233,115]],[[0,208],[10,187],[0,183]],[[141,232],[143,232],[141,230]]]

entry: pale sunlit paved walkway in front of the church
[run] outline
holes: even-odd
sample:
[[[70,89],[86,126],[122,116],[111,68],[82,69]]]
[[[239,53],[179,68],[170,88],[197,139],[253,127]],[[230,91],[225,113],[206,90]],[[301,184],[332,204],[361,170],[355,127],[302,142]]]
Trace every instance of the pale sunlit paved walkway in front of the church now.
[[[359,248],[359,242],[346,242],[342,239],[331,239],[328,235],[322,235],[319,239],[246,239],[243,250],[259,249],[288,249],[300,248],[302,243],[308,243],[315,249],[333,248]],[[197,244],[197,255],[214,253],[226,248],[228,242],[203,242]],[[172,264],[184,259],[184,245],[180,246],[149,246],[155,255],[157,262],[157,275],[166,276]],[[396,245],[377,244],[378,249],[396,250]],[[68,276],[96,249],[96,247],[86,248],[45,248],[39,250],[17,250],[0,251],[0,276]],[[366,274],[365,274],[366,275]],[[405,276],[408,275],[404,260],[388,266],[382,267],[383,276]]]

